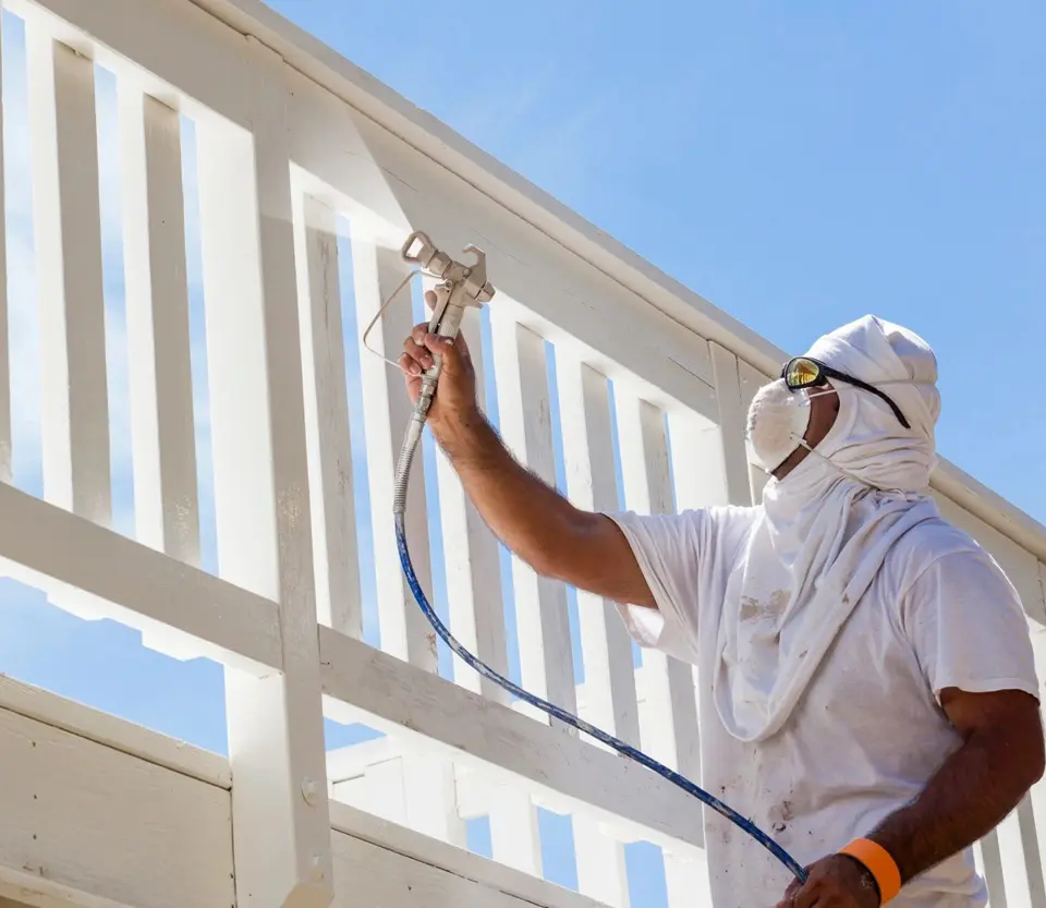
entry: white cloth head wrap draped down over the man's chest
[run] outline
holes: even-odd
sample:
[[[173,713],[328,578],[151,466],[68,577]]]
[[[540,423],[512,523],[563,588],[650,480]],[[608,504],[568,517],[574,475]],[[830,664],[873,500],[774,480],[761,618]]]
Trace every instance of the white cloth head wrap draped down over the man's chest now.
[[[912,331],[865,316],[807,352],[880,388],[832,380],[839,414],[783,480],[771,479],[741,583],[723,605],[713,686],[723,725],[744,741],[774,735],[897,541],[936,519],[926,494],[940,412],[937,363]]]

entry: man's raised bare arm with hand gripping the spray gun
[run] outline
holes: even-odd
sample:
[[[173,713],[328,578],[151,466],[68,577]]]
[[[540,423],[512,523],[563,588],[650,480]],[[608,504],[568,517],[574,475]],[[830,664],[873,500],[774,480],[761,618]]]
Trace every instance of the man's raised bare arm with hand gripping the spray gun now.
[[[522,467],[476,404],[475,371],[463,338],[449,346],[417,326],[401,365],[411,398],[417,377],[443,356],[428,425],[465,494],[495,535],[543,577],[616,602],[655,607],[632,547],[610,518],[574,507]]]

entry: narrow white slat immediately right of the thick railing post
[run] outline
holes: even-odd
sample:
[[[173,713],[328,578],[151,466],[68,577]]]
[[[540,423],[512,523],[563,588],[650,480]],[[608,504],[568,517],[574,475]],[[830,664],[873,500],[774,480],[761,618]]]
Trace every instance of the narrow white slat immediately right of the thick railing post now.
[[[294,194],[294,208],[316,614],[321,624],[360,639],[363,602],[356,554],[337,216],[326,205],[300,192]]]

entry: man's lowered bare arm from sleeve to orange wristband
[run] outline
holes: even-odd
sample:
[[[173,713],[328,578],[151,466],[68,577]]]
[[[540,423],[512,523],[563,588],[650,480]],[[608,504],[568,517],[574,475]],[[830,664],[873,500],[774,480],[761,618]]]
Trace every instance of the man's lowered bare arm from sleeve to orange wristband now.
[[[1038,701],[1019,690],[941,691],[961,747],[910,804],[868,836],[893,858],[902,882],[987,835],[1043,775]]]

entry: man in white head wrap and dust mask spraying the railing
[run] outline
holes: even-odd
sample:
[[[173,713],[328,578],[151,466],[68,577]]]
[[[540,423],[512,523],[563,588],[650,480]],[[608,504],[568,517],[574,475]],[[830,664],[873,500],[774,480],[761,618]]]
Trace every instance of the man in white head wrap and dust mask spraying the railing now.
[[[706,811],[715,907],[984,905],[970,846],[1043,773],[1038,683],[1015,590],[926,494],[929,347],[874,317],[820,338],[752,403],[762,504],[654,517],[579,510],[518,464],[461,340],[415,329],[412,397],[434,352],[429,426],[483,518],[697,666],[704,787],[808,867],[790,882]]]

